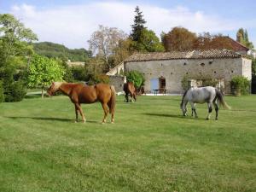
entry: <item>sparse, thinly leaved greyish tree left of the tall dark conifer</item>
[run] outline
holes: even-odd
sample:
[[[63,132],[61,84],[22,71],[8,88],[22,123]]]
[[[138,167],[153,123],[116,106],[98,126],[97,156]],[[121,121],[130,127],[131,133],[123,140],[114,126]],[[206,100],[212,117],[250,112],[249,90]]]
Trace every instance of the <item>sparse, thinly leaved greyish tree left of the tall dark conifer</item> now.
[[[90,50],[105,61],[107,71],[113,67],[113,60],[110,58],[115,58],[119,42],[126,37],[125,32],[108,26],[99,26],[99,29],[92,33],[88,41]]]

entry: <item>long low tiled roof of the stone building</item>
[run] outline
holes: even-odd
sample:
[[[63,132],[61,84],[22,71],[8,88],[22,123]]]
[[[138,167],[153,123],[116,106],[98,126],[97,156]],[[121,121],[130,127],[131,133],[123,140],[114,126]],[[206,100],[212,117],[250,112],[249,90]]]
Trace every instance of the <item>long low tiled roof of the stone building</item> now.
[[[159,61],[177,59],[216,59],[216,58],[239,58],[243,55],[227,49],[208,49],[192,51],[171,51],[154,53],[136,53],[131,55],[125,62],[130,61]]]

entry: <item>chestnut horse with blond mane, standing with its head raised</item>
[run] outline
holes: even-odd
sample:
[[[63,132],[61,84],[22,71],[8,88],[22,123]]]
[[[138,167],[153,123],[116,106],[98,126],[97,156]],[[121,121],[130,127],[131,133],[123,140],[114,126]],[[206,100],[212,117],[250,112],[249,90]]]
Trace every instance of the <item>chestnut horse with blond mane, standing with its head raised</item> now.
[[[108,84],[96,84],[88,86],[85,84],[54,82],[51,84],[47,92],[49,96],[52,96],[57,90],[61,90],[63,94],[69,96],[71,102],[74,103],[76,122],[78,122],[78,112],[80,113],[83,121],[86,121],[81,108],[81,103],[101,102],[104,110],[104,118],[102,123],[106,123],[108,112],[112,115],[111,122],[113,123],[113,114],[115,108],[115,90],[113,86]]]

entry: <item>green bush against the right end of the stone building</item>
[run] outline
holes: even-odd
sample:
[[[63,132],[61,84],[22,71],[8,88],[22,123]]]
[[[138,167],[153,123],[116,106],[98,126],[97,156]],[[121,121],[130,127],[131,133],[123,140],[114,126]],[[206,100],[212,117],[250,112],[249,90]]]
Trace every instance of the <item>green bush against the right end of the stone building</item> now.
[[[231,93],[240,96],[246,95],[250,91],[250,81],[243,76],[235,76],[230,81]]]

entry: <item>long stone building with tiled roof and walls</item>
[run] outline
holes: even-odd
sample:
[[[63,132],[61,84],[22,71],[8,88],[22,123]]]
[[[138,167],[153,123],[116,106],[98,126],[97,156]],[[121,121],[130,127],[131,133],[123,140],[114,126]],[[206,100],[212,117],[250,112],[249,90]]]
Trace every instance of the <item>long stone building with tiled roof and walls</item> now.
[[[124,70],[143,73],[146,93],[161,89],[182,93],[182,80],[187,76],[192,83],[218,80],[225,94],[230,94],[233,76],[252,79],[252,61],[246,55],[226,49],[134,54],[124,61]]]

